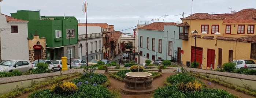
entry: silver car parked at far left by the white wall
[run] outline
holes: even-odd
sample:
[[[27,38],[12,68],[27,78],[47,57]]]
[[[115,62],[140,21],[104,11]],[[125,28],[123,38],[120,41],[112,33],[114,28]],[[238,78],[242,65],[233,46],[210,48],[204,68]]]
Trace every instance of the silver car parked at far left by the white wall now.
[[[12,72],[15,70],[23,73],[32,70],[33,65],[27,60],[5,60],[0,63],[0,72]]]

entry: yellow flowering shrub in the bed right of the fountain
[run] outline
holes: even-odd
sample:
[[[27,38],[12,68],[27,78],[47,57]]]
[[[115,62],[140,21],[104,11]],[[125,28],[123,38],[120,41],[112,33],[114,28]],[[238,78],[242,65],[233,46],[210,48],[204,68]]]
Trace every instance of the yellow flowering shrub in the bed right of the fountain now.
[[[203,88],[202,84],[198,82],[197,80],[189,83],[181,82],[178,84],[178,89],[185,93],[185,92],[193,92],[193,91],[201,91]]]

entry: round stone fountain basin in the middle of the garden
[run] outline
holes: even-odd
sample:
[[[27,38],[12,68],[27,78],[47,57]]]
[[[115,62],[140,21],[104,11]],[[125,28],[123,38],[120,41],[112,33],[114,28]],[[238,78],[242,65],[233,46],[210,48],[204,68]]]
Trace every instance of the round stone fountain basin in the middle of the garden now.
[[[152,86],[152,74],[148,72],[128,72],[124,81],[125,86],[121,89],[126,94],[149,94],[156,89]]]

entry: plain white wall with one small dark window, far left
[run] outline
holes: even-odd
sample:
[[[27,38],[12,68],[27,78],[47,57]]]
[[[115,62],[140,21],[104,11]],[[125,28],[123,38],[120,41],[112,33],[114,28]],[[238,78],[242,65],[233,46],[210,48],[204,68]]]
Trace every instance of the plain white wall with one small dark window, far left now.
[[[29,45],[27,41],[27,23],[7,23],[4,15],[0,15],[1,58],[2,60],[29,60]],[[18,26],[18,33],[11,33],[11,25]]]

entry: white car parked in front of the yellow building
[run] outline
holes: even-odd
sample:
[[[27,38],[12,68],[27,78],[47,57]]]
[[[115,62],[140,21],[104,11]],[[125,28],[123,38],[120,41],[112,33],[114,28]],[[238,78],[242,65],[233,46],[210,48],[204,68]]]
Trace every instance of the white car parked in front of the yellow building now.
[[[234,60],[231,63],[235,63],[235,68],[256,68],[256,64],[253,60]]]

